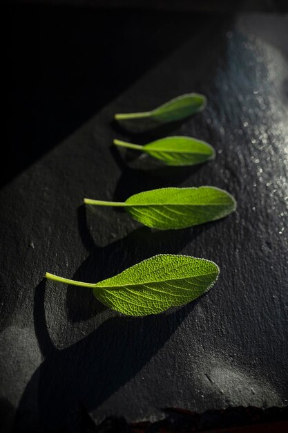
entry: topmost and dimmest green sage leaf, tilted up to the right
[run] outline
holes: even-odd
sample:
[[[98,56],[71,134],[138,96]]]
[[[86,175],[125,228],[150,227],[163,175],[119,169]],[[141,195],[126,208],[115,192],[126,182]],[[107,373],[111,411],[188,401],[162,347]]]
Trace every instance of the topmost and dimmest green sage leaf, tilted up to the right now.
[[[204,110],[206,104],[207,99],[204,95],[186,93],[165,102],[165,104],[151,111],[115,114],[115,120],[130,131],[141,132],[167,122],[188,118]]]

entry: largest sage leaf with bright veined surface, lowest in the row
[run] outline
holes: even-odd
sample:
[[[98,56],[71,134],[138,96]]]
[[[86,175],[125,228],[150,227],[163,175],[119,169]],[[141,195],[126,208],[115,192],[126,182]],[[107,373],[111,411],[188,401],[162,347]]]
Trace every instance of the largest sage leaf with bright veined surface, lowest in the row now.
[[[50,273],[45,277],[93,288],[97,300],[112,310],[143,316],[195,300],[213,286],[218,275],[219,268],[213,261],[160,254],[96,284],[76,282]]]

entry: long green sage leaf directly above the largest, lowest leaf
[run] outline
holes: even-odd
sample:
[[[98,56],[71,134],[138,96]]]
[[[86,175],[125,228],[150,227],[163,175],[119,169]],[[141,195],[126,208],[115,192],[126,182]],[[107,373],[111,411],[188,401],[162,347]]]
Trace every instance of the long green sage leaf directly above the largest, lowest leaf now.
[[[125,202],[84,199],[88,205],[123,206],[133,219],[151,228],[191,227],[223,218],[236,210],[236,200],[220,188],[160,188],[140,192]]]

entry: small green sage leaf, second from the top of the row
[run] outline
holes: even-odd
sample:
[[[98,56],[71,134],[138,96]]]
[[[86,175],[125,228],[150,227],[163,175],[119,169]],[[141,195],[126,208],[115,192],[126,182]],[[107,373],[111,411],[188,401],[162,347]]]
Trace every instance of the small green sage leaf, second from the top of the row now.
[[[119,147],[127,147],[146,152],[167,165],[195,165],[215,158],[212,146],[202,140],[191,137],[166,137],[149,142],[144,146],[134,145],[122,140],[113,140]]]

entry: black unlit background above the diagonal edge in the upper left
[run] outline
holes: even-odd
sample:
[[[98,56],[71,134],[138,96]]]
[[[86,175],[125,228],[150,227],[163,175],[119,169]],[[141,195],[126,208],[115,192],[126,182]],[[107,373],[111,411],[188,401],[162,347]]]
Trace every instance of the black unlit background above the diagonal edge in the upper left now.
[[[104,8],[104,6],[106,8]],[[75,131],[202,21],[240,11],[282,13],[285,0],[6,1],[1,6],[8,91],[0,185]],[[213,12],[215,15],[209,15]]]

